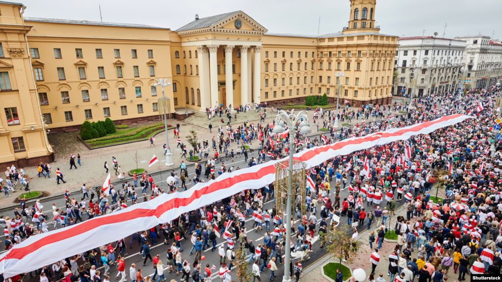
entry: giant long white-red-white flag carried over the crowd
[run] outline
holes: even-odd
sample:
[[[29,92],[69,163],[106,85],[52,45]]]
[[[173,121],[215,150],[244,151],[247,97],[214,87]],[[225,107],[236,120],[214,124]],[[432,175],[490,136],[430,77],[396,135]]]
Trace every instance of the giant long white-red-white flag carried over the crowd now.
[[[336,156],[406,140],[418,134],[428,134],[438,128],[453,125],[471,116],[455,114],[402,128],[352,137],[333,144],[305,149],[293,157],[304,162],[307,169]],[[50,232],[30,236],[20,244],[0,255],[0,273],[11,277],[59,261],[65,257],[116,241],[130,234],[168,223],[186,213],[247,189],[264,187],[275,181],[278,162],[223,173],[207,183],[198,183],[191,189],[171,194],[161,194],[147,202],[138,203],[119,211]],[[71,246],[71,247],[68,247]]]

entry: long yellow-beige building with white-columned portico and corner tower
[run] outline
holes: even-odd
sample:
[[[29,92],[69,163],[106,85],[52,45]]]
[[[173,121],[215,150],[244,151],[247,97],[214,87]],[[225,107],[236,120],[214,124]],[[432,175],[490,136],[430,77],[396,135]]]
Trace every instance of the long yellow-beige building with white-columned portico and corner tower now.
[[[162,93],[153,83],[161,77],[172,82],[165,95],[171,98],[174,117],[174,110],[182,108],[204,110],[220,104],[233,108],[265,101],[277,106],[303,103],[309,95],[324,93],[334,101],[337,89],[340,98],[353,105],[389,103],[398,37],[381,34],[374,26],[375,5],[376,0],[351,0],[347,27],[309,36],[270,33],[242,11],[196,16],[173,31],[28,18],[23,17],[22,4],[0,2],[0,23],[8,26],[1,35],[6,53],[0,63],[10,64],[13,55],[7,48],[20,45],[6,32],[16,26],[24,40],[18,46],[24,51],[17,56],[26,62],[24,79],[29,80],[20,83],[23,78],[15,75],[14,67],[6,65],[2,71],[8,73],[12,89],[0,87],[0,95],[8,90],[15,97],[0,112],[0,137],[6,136],[0,142],[9,145],[0,147],[0,164],[38,162],[31,157],[32,149],[41,156],[52,152],[47,131],[76,130],[86,119],[110,117],[116,123],[157,119],[157,98]],[[31,84],[33,89],[26,92],[20,84]],[[12,115],[18,116],[21,126],[9,123]],[[37,120],[38,135],[28,136],[22,124],[31,126]],[[15,135],[22,135],[23,146],[15,145]],[[36,146],[31,138],[37,139]]]

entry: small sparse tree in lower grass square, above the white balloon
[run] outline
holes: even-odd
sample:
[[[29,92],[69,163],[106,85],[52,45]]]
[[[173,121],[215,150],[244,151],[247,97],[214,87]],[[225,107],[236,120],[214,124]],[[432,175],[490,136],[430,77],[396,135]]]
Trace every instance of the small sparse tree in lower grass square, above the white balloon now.
[[[350,235],[341,230],[328,231],[326,242],[329,242],[327,244],[328,252],[339,259],[339,265],[342,264],[342,259],[351,263],[357,254],[358,241],[352,240]]]

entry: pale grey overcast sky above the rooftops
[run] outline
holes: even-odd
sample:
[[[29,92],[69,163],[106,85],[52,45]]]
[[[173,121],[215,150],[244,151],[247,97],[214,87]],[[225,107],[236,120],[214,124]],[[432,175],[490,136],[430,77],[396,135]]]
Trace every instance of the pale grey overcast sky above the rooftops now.
[[[18,1],[15,1],[18,2]],[[147,24],[176,30],[200,18],[242,10],[271,33],[316,35],[347,25],[349,0],[25,0],[26,17]],[[381,33],[446,37],[477,35],[502,38],[502,0],[378,0],[376,25]],[[498,15],[497,15],[498,14]]]

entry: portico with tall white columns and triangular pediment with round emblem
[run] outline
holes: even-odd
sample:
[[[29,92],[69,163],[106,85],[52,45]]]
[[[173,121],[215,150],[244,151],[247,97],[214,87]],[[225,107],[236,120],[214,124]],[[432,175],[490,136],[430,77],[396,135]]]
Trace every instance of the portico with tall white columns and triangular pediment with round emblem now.
[[[201,110],[260,102],[261,40],[267,30],[241,11],[210,18],[196,18],[177,31],[183,49],[197,50]]]

